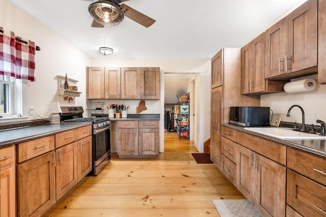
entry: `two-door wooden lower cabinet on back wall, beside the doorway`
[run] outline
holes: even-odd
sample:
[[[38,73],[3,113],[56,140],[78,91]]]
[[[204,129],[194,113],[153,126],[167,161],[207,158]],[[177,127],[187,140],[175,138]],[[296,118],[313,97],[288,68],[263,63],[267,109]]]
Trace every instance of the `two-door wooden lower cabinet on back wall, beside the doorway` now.
[[[157,158],[159,121],[118,121],[119,158]]]

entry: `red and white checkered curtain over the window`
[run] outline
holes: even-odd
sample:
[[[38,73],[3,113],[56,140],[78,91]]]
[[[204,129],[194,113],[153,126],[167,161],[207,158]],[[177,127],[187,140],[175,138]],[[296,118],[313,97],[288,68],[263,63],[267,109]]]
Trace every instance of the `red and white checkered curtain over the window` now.
[[[13,32],[0,34],[0,60],[0,75],[35,81],[35,42],[25,45]]]

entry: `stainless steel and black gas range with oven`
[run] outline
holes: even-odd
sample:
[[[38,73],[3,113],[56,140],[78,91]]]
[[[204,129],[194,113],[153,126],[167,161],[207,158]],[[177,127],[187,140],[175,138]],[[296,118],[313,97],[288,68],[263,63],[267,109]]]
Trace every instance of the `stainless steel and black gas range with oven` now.
[[[97,176],[103,167],[111,160],[111,123],[107,117],[83,117],[84,109],[77,107],[61,107],[61,121],[92,122],[93,169],[89,175]]]

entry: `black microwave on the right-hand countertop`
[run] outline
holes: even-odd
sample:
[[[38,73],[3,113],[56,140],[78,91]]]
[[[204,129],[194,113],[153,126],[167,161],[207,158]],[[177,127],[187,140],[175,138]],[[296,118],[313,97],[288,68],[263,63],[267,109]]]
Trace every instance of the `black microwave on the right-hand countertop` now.
[[[243,127],[267,127],[269,110],[269,107],[230,107],[230,123]]]

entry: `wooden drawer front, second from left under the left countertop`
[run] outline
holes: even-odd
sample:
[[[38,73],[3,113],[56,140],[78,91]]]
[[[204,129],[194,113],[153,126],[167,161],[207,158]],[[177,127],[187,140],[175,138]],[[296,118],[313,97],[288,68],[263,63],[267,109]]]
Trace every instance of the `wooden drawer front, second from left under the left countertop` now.
[[[39,156],[53,149],[55,149],[55,136],[47,136],[19,143],[17,146],[18,163]]]

